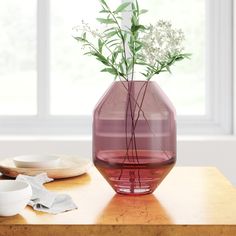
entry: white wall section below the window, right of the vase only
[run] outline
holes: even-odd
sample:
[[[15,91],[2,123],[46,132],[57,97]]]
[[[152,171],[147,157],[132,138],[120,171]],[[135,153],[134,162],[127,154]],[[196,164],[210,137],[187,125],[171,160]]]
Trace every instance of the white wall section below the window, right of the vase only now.
[[[182,137],[178,165],[215,166],[236,186],[236,137]]]

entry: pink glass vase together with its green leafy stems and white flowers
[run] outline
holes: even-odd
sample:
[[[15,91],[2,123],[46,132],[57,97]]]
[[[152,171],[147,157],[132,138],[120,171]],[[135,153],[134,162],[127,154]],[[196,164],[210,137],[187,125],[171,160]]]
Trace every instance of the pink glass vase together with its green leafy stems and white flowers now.
[[[94,110],[94,164],[116,192],[151,193],[175,163],[176,126],[174,109],[150,80],[171,72],[171,66],[190,54],[184,53],[182,30],[170,22],[141,23],[147,10],[140,9],[137,0],[115,10],[105,0],[100,3],[102,17],[97,21],[104,30],[93,30],[82,22],[74,35],[84,54],[102,63],[102,72],[120,80]],[[123,26],[120,22],[127,12],[130,23]],[[136,71],[144,81],[134,81]]]

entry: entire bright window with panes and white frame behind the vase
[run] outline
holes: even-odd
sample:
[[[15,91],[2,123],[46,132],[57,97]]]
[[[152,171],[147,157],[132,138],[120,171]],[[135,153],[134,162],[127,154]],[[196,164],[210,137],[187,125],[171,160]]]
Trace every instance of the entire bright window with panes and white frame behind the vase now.
[[[155,78],[177,109],[179,133],[230,133],[232,0],[139,3],[149,9],[146,23],[182,28],[192,53],[173,75]],[[82,19],[96,27],[98,9],[97,0],[1,1],[1,133],[90,134],[93,107],[112,79],[82,55],[71,29]]]

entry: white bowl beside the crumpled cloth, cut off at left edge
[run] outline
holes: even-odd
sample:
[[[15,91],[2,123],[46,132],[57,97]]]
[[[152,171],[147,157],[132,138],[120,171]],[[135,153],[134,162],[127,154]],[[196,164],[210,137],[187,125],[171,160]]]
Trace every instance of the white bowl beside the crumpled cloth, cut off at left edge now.
[[[0,180],[0,216],[13,216],[25,208],[32,189],[19,180]]]

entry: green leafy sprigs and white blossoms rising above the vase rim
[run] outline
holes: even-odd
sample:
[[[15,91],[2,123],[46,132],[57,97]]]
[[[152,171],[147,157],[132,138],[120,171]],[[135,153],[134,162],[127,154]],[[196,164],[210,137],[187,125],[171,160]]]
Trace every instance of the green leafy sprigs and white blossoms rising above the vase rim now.
[[[189,58],[184,53],[184,33],[175,29],[168,21],[159,20],[155,25],[143,25],[140,21],[147,10],[140,9],[138,1],[124,2],[111,10],[105,0],[100,0],[103,16],[97,21],[105,25],[102,32],[92,30],[82,22],[74,28],[74,38],[83,45],[85,55],[94,56],[105,68],[102,72],[112,74],[115,79],[133,80],[135,70],[149,81],[161,72],[171,72],[177,61]],[[129,26],[121,26],[124,12],[131,13]],[[81,35],[76,35],[81,32]],[[93,43],[92,39],[97,42]]]

